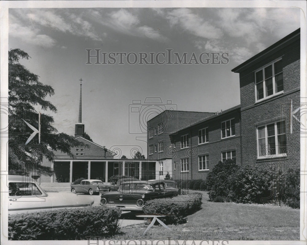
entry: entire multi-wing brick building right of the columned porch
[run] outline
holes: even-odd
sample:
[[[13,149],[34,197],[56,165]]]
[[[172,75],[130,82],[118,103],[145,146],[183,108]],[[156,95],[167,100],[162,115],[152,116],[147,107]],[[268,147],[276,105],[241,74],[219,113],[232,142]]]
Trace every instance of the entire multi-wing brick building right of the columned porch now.
[[[227,158],[238,165],[300,165],[300,29],[232,72],[239,73],[240,105],[217,114],[186,111],[180,120],[164,111],[148,121],[148,158],[158,159],[160,170],[205,179]]]

